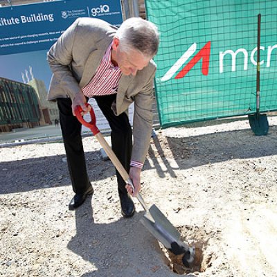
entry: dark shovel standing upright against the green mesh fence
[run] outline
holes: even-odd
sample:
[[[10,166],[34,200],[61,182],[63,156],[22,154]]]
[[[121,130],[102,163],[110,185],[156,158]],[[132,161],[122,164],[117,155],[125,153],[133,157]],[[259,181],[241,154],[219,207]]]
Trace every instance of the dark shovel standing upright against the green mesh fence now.
[[[265,136],[269,130],[266,114],[260,114],[260,19],[258,15],[257,78],[256,78],[256,114],[249,114],[249,124],[256,136]]]

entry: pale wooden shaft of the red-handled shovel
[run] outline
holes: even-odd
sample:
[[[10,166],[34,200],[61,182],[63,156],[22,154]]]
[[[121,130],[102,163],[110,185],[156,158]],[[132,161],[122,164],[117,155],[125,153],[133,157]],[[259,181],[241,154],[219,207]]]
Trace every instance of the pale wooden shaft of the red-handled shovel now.
[[[132,180],[129,178],[129,174],[127,173],[127,171],[125,170],[125,168],[123,168],[123,165],[120,163],[120,161],[118,160],[118,157],[116,157],[116,154],[114,154],[114,151],[111,150],[111,147],[109,146],[109,144],[107,143],[107,141],[105,140],[105,138],[102,136],[102,134],[100,132],[98,132],[98,134],[95,134],[96,139],[98,139],[100,145],[102,146],[102,148],[105,150],[106,154],[108,155],[109,159],[111,160],[111,163],[114,164],[114,166],[116,167],[116,170],[119,172],[120,176],[123,177],[123,180],[129,184],[130,186],[132,186],[132,188],[134,189],[134,185]],[[148,211],[148,208],[143,200],[143,197],[141,197],[141,194],[138,193],[136,195],[136,198],[139,200],[139,202],[141,203],[141,206],[143,206],[145,211]]]

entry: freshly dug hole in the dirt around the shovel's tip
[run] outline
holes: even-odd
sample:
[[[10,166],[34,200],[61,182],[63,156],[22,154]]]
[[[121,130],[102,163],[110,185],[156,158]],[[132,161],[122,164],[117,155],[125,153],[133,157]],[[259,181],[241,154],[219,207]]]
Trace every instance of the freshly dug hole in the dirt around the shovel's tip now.
[[[195,258],[192,265],[186,267],[183,263],[184,254],[175,255],[159,243],[166,265],[168,265],[171,271],[179,275],[206,271],[208,267],[211,267],[215,259],[213,253],[207,253],[206,251],[208,240],[213,236],[214,232],[206,232],[198,226],[179,226],[177,229],[181,233],[181,240],[188,244],[189,247],[195,248]]]

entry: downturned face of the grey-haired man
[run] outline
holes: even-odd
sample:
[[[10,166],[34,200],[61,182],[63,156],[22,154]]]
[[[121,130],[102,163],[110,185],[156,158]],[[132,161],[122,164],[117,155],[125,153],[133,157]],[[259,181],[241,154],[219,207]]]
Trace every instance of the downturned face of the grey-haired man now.
[[[141,52],[130,50],[122,51],[120,44],[116,46],[116,63],[123,75],[136,75],[138,70],[148,66],[149,57],[145,57]]]

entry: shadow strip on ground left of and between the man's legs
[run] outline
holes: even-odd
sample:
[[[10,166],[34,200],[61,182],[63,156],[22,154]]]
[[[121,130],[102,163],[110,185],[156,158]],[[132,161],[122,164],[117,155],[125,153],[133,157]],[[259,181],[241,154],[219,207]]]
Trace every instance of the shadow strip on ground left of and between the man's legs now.
[[[105,179],[115,174],[111,161],[102,161],[99,151],[86,152],[85,157],[91,181]],[[67,164],[62,161],[64,158],[65,155],[55,155],[1,162],[0,194],[71,186]]]

